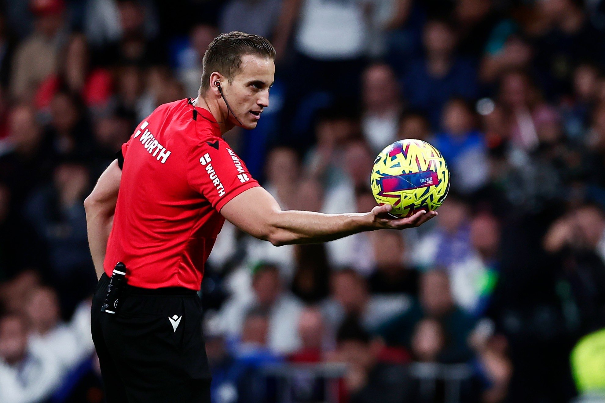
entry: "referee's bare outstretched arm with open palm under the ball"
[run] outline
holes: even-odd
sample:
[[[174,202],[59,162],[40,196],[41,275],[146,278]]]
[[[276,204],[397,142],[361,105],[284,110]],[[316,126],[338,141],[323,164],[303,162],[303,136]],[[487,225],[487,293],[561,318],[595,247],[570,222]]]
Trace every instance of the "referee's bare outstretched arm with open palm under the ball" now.
[[[417,227],[437,215],[419,211],[409,218],[387,218],[390,205],[376,206],[369,213],[322,214],[313,211],[283,211],[262,187],[245,190],[221,208],[224,218],[241,230],[273,245],[316,243],[381,228],[402,230]]]

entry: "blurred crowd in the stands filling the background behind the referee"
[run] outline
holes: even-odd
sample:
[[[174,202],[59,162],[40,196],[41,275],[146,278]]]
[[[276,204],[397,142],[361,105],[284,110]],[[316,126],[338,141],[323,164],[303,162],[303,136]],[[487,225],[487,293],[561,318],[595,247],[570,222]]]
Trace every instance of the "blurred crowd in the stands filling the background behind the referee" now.
[[[278,50],[269,108],[227,140],[283,208],[370,210],[401,138],[440,149],[453,189],[417,230],[325,245],[225,225],[203,282],[215,403],[605,401],[605,1],[0,10],[2,403],[102,401],[83,199],[231,30]]]

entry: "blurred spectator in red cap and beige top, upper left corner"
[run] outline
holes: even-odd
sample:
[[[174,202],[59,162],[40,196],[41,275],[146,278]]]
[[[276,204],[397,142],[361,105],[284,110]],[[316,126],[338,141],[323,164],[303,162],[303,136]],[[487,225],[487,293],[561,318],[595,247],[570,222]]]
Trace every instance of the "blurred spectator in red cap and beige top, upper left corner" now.
[[[22,102],[33,98],[38,85],[57,71],[57,56],[65,41],[64,0],[31,0],[34,32],[15,53],[11,93]]]

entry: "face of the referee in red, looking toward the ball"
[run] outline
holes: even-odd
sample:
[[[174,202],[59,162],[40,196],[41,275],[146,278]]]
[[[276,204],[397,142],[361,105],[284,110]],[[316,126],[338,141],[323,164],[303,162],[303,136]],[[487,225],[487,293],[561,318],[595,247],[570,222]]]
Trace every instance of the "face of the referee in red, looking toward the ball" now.
[[[229,121],[244,129],[257,127],[261,112],[269,106],[269,88],[273,85],[275,64],[269,57],[246,54],[241,57],[240,71],[231,83],[221,82],[223,94],[235,117],[229,113]]]

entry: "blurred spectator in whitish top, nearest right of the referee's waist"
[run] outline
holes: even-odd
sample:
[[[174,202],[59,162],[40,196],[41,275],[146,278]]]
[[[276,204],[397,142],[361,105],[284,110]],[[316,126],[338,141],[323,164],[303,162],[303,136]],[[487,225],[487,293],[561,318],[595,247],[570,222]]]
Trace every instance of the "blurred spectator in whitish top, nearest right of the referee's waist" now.
[[[273,352],[282,354],[298,349],[300,341],[296,334],[296,323],[302,306],[284,290],[278,268],[263,263],[257,265],[252,275],[252,288],[252,298],[228,300],[221,309],[221,323],[229,337],[244,337],[246,312],[258,308],[264,310],[267,316],[267,346]],[[250,326],[260,322],[256,319]]]

